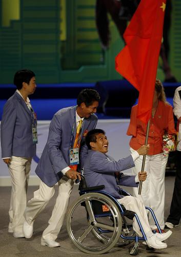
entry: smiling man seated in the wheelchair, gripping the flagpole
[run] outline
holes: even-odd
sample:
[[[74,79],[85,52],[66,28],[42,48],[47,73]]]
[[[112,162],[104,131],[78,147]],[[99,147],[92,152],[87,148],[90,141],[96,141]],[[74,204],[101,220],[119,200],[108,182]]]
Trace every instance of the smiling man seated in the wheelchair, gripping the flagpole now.
[[[146,234],[149,246],[155,249],[166,248],[167,244],[163,243],[163,241],[165,241],[172,232],[169,230],[163,234],[154,234],[150,228],[146,209],[142,201],[133,196],[123,196],[120,193],[115,179],[116,173],[119,185],[138,187],[139,181],[146,179],[146,172],[142,174],[139,172],[136,176],[128,176],[120,171],[134,167],[134,161],[139,158],[140,155],[147,154],[149,145],[142,145],[134,154],[115,161],[111,156],[106,154],[108,152],[109,142],[103,130],[94,129],[89,131],[86,136],[86,144],[89,149],[88,157],[84,164],[84,177],[87,187],[105,185],[105,189],[102,191],[115,197],[119,204],[122,204],[126,210],[133,211],[137,214]],[[142,236],[135,217],[133,218],[133,229],[139,236]]]

